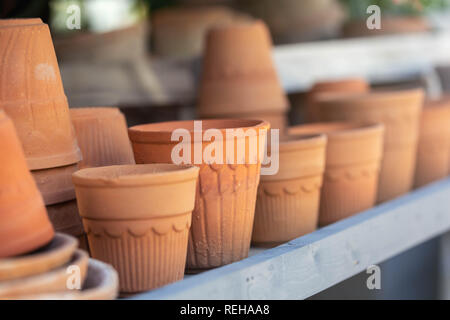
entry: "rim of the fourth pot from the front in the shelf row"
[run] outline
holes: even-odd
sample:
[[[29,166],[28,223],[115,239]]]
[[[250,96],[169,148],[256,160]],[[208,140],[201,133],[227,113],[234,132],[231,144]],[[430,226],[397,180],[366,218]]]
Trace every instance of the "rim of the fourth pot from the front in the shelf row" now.
[[[383,132],[384,125],[378,122],[315,122],[288,128],[288,135],[290,136],[321,133],[326,135],[328,140],[356,139],[377,134],[382,136]]]

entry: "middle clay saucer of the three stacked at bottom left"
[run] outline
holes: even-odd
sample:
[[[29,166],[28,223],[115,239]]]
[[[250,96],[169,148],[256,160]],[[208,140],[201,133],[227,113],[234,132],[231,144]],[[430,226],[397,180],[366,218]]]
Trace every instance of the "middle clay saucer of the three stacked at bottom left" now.
[[[80,281],[83,283],[86,278],[88,261],[88,254],[85,251],[77,250],[69,262],[47,273],[0,282],[0,299],[18,299],[25,295],[67,291],[69,290],[67,281],[73,275],[68,272],[68,268],[78,266]]]

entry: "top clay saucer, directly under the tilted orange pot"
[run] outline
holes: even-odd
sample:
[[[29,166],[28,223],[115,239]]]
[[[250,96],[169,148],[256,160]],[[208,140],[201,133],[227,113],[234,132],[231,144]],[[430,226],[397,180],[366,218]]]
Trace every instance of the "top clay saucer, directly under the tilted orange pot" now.
[[[70,260],[78,240],[57,233],[45,247],[30,254],[0,259],[0,281],[24,278],[58,268]]]

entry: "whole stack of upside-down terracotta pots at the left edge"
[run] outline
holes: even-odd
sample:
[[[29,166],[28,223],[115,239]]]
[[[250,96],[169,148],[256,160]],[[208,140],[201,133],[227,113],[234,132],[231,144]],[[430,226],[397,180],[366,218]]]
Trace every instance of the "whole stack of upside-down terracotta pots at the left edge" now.
[[[40,19],[0,22],[0,109],[12,119],[54,227],[80,239],[71,175],[82,159],[49,28]]]

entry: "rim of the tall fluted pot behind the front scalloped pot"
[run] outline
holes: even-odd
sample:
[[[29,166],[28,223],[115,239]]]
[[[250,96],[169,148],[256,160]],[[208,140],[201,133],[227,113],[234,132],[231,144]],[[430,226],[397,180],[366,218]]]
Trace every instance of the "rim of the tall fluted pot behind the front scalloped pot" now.
[[[189,133],[194,134],[195,131],[192,128],[194,121],[202,121],[202,132],[207,129],[218,129],[224,136],[226,136],[227,129],[243,129],[244,131],[249,129],[256,129],[258,131],[270,129],[270,124],[265,120],[220,118],[141,124],[128,128],[128,134],[132,142],[179,143],[179,141],[171,140],[172,132],[175,129],[187,129]],[[205,123],[208,124],[207,127],[204,126]],[[164,127],[170,128],[164,129]]]

